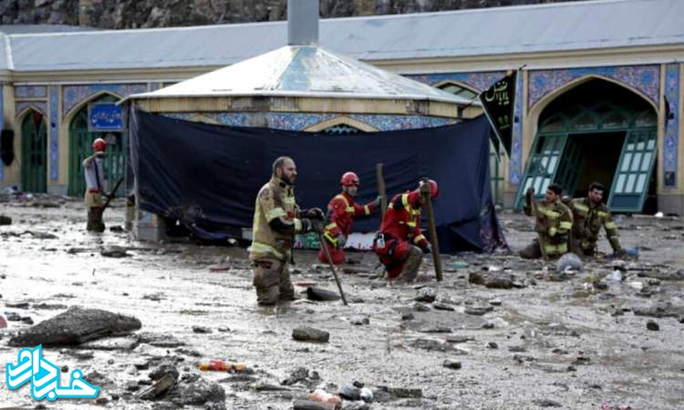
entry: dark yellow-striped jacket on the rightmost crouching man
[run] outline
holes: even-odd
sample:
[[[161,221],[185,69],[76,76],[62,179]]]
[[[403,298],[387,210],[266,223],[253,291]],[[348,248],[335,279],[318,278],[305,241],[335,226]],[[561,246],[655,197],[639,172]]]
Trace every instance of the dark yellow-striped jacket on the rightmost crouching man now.
[[[592,207],[587,198],[575,198],[568,206],[573,211],[573,241],[577,241],[583,251],[596,250],[596,241],[598,241],[601,227],[606,230],[606,236],[613,251],[622,251],[617,236],[617,225],[606,204],[599,203]]]

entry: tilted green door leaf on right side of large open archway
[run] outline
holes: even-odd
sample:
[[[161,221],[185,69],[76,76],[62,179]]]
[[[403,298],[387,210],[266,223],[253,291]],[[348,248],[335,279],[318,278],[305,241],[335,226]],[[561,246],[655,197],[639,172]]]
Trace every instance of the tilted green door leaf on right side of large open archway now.
[[[627,132],[620,161],[613,177],[608,206],[613,211],[639,212],[644,206],[651,174],[656,164],[656,128]]]

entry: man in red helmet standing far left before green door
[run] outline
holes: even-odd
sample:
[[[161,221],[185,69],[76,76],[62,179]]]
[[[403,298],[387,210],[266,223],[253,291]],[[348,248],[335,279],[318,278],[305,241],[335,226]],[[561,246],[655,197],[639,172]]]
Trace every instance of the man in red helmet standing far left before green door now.
[[[83,174],[86,177],[86,207],[88,208],[87,231],[105,231],[105,224],[102,221],[103,202],[102,197],[107,197],[105,193],[105,179],[102,169],[102,160],[107,150],[107,142],[102,138],[93,141],[93,154],[83,160]]]

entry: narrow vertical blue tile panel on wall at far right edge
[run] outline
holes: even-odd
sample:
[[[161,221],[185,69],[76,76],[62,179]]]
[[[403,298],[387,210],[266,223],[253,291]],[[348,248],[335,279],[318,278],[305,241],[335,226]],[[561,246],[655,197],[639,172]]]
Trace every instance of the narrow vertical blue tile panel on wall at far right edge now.
[[[663,181],[665,189],[678,186],[677,165],[679,146],[679,64],[668,64],[665,67],[665,98],[668,101],[668,112],[665,113],[665,141],[663,144]]]

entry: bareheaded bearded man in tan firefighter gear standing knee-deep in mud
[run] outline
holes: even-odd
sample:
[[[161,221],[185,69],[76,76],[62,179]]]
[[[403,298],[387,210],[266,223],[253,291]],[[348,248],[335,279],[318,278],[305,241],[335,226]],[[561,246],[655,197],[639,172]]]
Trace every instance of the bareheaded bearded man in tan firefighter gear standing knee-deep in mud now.
[[[323,231],[323,211],[299,210],[295,203],[296,176],[294,160],[275,159],[273,176],[256,197],[249,259],[254,265],[256,302],[260,305],[295,299],[287,270],[295,233]]]

